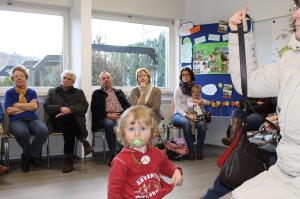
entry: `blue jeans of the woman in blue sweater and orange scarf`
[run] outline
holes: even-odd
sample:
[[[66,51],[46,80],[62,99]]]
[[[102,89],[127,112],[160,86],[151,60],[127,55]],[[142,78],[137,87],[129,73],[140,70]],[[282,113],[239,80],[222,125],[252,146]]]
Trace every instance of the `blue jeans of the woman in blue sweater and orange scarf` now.
[[[23,149],[24,156],[39,157],[44,143],[48,138],[48,128],[39,119],[20,118],[9,123],[9,130],[15,135]],[[34,139],[30,144],[30,134]]]

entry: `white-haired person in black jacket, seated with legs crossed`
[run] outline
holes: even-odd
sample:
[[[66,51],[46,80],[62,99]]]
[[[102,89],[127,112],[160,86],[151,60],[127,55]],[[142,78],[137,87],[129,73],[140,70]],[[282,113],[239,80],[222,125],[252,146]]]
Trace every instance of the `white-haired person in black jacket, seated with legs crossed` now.
[[[75,137],[83,143],[84,153],[87,155],[94,151],[86,140],[85,113],[89,107],[86,97],[81,89],[74,88],[76,75],[73,71],[65,70],[61,74],[61,85],[49,90],[44,103],[44,109],[49,114],[47,125],[52,131],[59,129],[65,140],[65,165],[63,173],[73,171],[73,153]]]

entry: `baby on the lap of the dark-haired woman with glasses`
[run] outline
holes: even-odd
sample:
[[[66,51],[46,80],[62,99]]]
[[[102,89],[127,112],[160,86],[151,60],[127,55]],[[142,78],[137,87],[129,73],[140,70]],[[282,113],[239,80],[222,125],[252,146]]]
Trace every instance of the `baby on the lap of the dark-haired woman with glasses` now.
[[[187,99],[187,105],[189,107],[188,114],[194,114],[197,115],[198,118],[203,120],[203,109],[202,106],[204,106],[207,101],[201,98],[201,87],[200,86],[193,86],[192,87],[192,97]],[[190,120],[192,125],[192,135],[195,139],[195,122]]]

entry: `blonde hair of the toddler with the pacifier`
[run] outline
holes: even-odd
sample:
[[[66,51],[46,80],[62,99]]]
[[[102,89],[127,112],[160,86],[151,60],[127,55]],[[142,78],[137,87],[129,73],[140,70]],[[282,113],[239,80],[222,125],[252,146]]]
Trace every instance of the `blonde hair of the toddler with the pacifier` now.
[[[128,121],[129,118],[131,118],[132,121]],[[132,106],[121,115],[121,118],[118,120],[117,126],[115,128],[115,132],[119,142],[123,146],[130,145],[125,139],[125,126],[127,123],[132,122],[142,122],[147,126],[150,126],[151,136],[148,144],[154,145],[155,140],[159,135],[157,117],[155,113],[147,106]]]

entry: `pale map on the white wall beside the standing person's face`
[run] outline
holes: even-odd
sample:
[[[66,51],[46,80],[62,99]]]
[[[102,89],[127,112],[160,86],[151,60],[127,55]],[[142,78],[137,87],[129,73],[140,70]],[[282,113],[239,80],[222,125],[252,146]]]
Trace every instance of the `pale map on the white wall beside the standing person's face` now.
[[[281,17],[273,20],[272,23],[272,62],[276,62],[280,57],[280,52],[284,51],[289,42],[291,32],[291,17]]]

